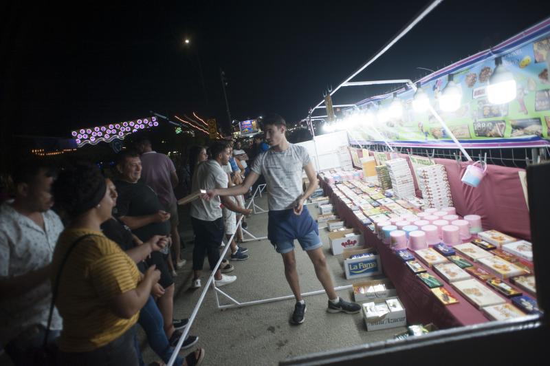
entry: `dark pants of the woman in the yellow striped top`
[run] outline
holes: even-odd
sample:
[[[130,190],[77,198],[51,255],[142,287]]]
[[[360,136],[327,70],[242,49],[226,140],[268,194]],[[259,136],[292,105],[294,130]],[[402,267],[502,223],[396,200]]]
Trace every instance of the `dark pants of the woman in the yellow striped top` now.
[[[58,365],[62,366],[136,366],[135,326],[111,343],[90,352],[59,352]]]

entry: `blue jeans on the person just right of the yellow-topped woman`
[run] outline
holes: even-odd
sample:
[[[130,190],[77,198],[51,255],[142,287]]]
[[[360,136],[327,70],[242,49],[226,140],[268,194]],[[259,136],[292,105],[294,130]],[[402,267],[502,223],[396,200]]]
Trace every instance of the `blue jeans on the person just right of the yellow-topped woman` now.
[[[145,331],[151,349],[153,349],[165,363],[168,363],[168,360],[170,360],[170,357],[174,353],[174,348],[170,347],[168,343],[168,338],[166,338],[166,333],[164,333],[162,314],[160,314],[159,308],[152,296],[149,296],[149,299],[140,311],[140,318],[137,320],[137,323],[140,323]],[[144,366],[145,364],[141,356],[140,346],[137,343],[137,337],[135,338],[135,347],[140,358],[140,366]],[[181,366],[183,363],[184,359],[177,356],[174,365]]]

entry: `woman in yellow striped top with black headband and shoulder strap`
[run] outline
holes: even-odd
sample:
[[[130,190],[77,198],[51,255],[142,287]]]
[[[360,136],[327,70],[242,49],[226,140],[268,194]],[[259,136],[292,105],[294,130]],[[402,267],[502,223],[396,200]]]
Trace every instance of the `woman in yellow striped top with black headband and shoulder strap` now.
[[[63,317],[59,364],[137,365],[133,325],[159,271],[151,266],[141,276],[135,262],[102,234],[116,193],[96,166],[63,171],[53,193],[71,219],[52,262],[55,304]]]

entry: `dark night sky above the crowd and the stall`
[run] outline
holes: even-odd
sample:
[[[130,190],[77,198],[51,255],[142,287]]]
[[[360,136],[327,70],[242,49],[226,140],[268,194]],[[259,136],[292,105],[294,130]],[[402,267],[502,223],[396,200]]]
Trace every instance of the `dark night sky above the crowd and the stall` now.
[[[295,122],[429,2],[17,2],[3,15],[5,116],[16,133],[64,137],[150,110],[197,111],[223,124],[221,67],[232,118],[275,111]],[[354,80],[414,80],[426,74],[417,67],[443,67],[549,16],[550,1],[446,0]],[[387,91],[348,89],[333,103]]]

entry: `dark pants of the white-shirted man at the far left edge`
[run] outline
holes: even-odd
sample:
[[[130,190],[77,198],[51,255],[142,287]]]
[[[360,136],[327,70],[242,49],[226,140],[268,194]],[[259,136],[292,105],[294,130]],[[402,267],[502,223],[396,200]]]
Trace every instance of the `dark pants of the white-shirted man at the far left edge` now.
[[[50,330],[47,343],[54,343],[61,332]],[[5,353],[10,356],[14,365],[34,365],[34,353],[39,351],[44,344],[46,329],[42,325],[35,325],[19,334],[4,346]]]

